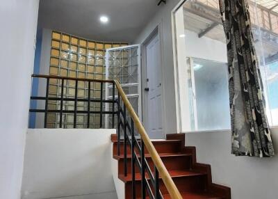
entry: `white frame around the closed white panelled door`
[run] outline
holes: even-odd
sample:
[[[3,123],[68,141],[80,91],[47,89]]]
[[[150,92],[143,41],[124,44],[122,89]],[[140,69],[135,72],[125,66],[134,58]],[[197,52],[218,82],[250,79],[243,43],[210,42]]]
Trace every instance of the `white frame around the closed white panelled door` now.
[[[163,125],[163,134],[162,137],[166,138],[165,132],[165,83],[163,79],[165,79],[165,72],[164,72],[164,60],[163,60],[163,27],[162,27],[162,20],[155,26],[155,28],[147,35],[147,38],[142,42],[141,45],[141,83],[142,83],[142,123],[145,126],[146,131],[148,130],[148,104],[147,104],[147,95],[145,95],[145,88],[147,87],[147,45],[149,42],[154,38],[154,36],[158,35],[159,38],[159,49],[161,55],[161,113],[162,113],[162,125]]]

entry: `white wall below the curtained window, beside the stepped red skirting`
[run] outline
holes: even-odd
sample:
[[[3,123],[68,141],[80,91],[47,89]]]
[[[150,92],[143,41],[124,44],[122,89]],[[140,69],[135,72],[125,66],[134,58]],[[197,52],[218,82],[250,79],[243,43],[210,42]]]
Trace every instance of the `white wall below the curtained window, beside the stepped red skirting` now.
[[[278,149],[278,128],[272,129]],[[231,187],[233,199],[277,199],[278,155],[271,158],[235,157],[231,154],[231,132],[186,134],[186,145],[197,148],[197,161],[211,164],[213,182]]]

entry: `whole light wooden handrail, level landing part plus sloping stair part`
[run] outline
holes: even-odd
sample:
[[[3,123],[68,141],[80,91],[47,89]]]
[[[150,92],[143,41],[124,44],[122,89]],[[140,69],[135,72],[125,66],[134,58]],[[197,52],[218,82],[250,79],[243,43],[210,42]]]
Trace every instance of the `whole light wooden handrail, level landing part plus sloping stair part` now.
[[[129,114],[130,114],[131,118],[133,119],[134,125],[135,125],[136,129],[138,130],[138,133],[140,134],[142,141],[145,143],[145,147],[147,148],[147,150],[152,158],[152,161],[154,162],[154,165],[156,166],[158,173],[161,176],[161,178],[166,186],[168,193],[170,194],[171,198],[173,198],[173,199],[182,199],[181,193],[179,193],[177,186],[174,184],[174,181],[172,180],[172,177],[170,176],[167,169],[165,168],[165,166],[161,160],[161,157],[159,157],[158,152],[156,151],[156,149],[154,148],[154,145],[152,144],[152,141],[149,139],[149,136],[147,135],[145,128],[142,126],[140,119],[138,118],[133,107],[131,106],[131,103],[127,99],[126,94],[124,93],[124,90],[122,90],[122,86],[120,85],[119,81],[109,80],[109,79],[101,80],[101,79],[87,79],[87,78],[75,78],[75,77],[60,77],[60,76],[44,75],[44,74],[32,74],[32,77],[115,83],[115,86],[119,92],[119,95],[120,95],[120,97],[122,97],[122,102],[124,102],[124,105],[126,106],[127,111],[129,111]]]

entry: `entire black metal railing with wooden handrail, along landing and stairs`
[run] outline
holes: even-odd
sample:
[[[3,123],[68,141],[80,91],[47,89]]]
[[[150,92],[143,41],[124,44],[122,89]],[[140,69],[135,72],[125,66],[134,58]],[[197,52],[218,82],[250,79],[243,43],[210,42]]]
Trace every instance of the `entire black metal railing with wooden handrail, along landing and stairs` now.
[[[48,75],[32,75],[33,78],[43,78],[47,79],[47,88],[44,97],[31,97],[31,100],[45,100],[44,109],[30,109],[30,112],[36,113],[44,113],[44,127],[47,127],[47,114],[48,113],[58,113],[60,116],[59,120],[59,127],[63,127],[62,118],[63,113],[74,113],[74,128],[76,127],[76,115],[78,113],[85,113],[87,114],[87,127],[90,127],[90,114],[95,113],[101,116],[101,120],[99,121],[99,126],[103,127],[102,116],[103,115],[111,115],[112,118],[112,127],[116,127],[117,129],[117,155],[124,156],[124,176],[127,176],[128,173],[128,157],[127,157],[127,148],[131,148],[131,175],[132,175],[132,198],[138,198],[138,190],[136,190],[136,181],[140,181],[141,184],[141,198],[145,199],[146,197],[152,199],[160,199],[163,198],[161,191],[159,190],[159,174],[158,174],[158,165],[159,170],[163,175],[161,175],[162,180],[170,193],[172,198],[181,198],[177,187],[172,182],[172,178],[170,177],[169,173],[165,166],[163,165],[158,153],[156,152],[154,145],[149,140],[147,133],[145,132],[144,127],[138,116],[136,115],[135,111],[133,110],[129,100],[127,99],[120,83],[118,81],[113,80],[97,80],[97,79],[80,79],[80,78],[70,78],[70,77],[56,77],[56,76],[48,76]],[[49,97],[49,80],[50,79],[60,79],[60,97]],[[75,95],[72,98],[64,97],[63,90],[64,90],[64,83],[65,80],[75,81]],[[78,84],[79,81],[88,82],[88,97],[87,98],[80,98],[77,96]],[[92,82],[99,82],[101,83],[101,95],[99,99],[91,98],[92,90],[90,84]],[[103,90],[105,83],[112,83],[113,95],[111,100],[104,100]],[[117,88],[117,96],[115,96],[115,89]],[[58,100],[60,101],[60,109],[51,110],[48,109],[48,102],[49,100]],[[63,103],[66,101],[73,101],[74,102],[74,110],[64,110]],[[77,102],[87,102],[88,109],[86,111],[79,111],[77,110]],[[99,111],[92,111],[90,110],[90,103],[91,102],[99,102],[100,103],[100,110]],[[109,103],[112,104],[112,111],[104,111],[103,104]],[[115,109],[117,106],[117,109]],[[117,116],[117,118],[115,118]],[[117,125],[115,126],[115,121],[117,119]],[[124,144],[124,151],[120,151],[121,143]],[[147,143],[147,144],[146,144]],[[149,154],[152,158],[151,161],[154,163],[154,168],[151,169],[149,166],[149,161],[147,161],[145,157],[146,149],[149,149]],[[150,151],[151,150],[151,151]],[[136,166],[140,170],[140,178],[136,179]],[[137,197],[136,197],[137,196]]]

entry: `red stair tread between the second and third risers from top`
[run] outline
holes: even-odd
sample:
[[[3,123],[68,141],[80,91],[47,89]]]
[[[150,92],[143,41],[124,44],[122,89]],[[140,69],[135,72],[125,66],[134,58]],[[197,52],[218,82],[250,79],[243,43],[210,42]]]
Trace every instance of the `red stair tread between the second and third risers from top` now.
[[[206,173],[202,173],[196,170],[168,170],[168,173],[170,174],[171,177],[190,177],[190,176],[201,176],[201,175],[206,175]],[[153,173],[154,174],[154,173]],[[148,175],[147,179],[149,179]],[[131,182],[132,181],[132,175],[131,173],[128,173],[126,176],[123,174],[119,175],[120,180],[124,182]],[[135,175],[136,180],[141,180],[141,174],[136,173]],[[159,178],[161,178],[159,176]]]

